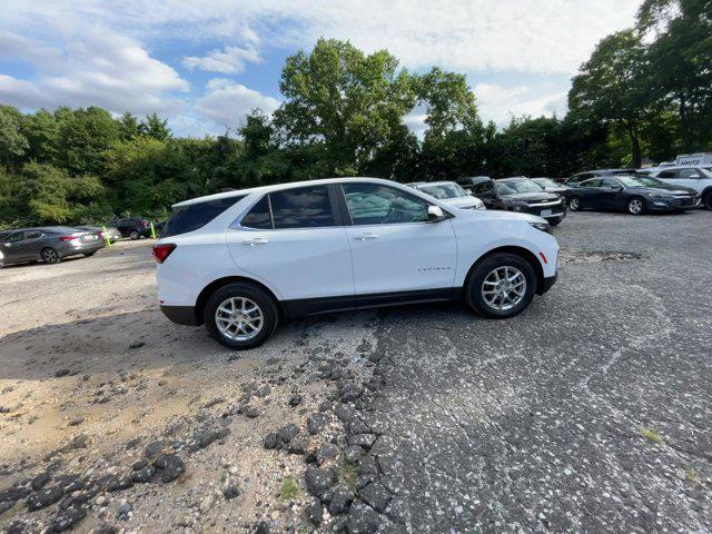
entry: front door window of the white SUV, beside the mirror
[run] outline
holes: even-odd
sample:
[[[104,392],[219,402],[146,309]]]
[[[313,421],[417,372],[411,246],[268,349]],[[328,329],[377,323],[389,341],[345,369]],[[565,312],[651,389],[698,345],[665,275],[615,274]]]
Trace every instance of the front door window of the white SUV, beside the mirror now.
[[[342,184],[355,226],[427,221],[428,202],[393,187]]]

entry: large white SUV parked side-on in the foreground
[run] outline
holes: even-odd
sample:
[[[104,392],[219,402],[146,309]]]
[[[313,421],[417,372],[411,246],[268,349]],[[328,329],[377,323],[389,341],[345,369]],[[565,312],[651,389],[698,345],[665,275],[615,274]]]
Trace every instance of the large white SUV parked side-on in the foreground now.
[[[535,216],[339,178],[177,204],[154,256],[169,319],[250,348],[279,318],[324,312],[464,299],[515,316],[556,280],[558,245]]]

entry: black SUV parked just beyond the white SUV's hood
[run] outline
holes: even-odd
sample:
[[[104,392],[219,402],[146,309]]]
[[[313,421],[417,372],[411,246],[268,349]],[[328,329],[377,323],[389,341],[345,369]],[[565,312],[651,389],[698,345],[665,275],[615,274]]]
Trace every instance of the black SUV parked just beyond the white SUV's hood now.
[[[485,202],[487,209],[504,209],[537,215],[556,226],[566,217],[564,198],[543,191],[528,178],[493,180],[486,176],[461,178],[457,182]]]

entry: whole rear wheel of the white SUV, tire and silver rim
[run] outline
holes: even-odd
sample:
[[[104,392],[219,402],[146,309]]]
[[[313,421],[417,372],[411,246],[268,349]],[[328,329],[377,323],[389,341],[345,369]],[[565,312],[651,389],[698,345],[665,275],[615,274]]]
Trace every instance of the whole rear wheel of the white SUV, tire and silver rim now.
[[[229,348],[263,344],[277,327],[277,305],[267,291],[249,283],[234,283],[215,291],[204,312],[208,333]]]

